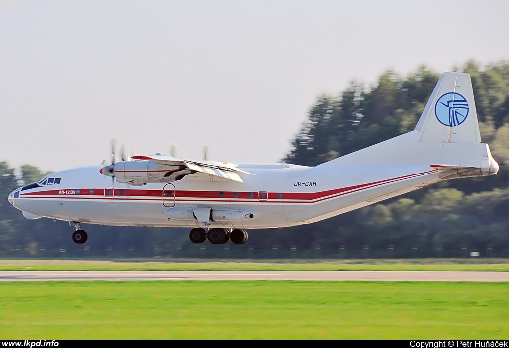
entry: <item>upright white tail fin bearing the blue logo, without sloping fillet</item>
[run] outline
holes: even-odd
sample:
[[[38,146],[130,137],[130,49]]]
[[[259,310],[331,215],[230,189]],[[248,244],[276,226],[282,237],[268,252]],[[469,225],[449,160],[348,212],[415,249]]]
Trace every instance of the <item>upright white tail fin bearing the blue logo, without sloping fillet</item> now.
[[[415,127],[420,142],[480,142],[472,81],[469,74],[440,76]]]

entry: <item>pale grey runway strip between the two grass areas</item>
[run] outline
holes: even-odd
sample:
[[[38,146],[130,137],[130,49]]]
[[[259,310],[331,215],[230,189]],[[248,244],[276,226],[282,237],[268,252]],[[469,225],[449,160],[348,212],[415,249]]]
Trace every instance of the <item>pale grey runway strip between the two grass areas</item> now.
[[[509,272],[430,271],[24,271],[0,272],[0,281],[63,280],[300,280],[507,282]]]

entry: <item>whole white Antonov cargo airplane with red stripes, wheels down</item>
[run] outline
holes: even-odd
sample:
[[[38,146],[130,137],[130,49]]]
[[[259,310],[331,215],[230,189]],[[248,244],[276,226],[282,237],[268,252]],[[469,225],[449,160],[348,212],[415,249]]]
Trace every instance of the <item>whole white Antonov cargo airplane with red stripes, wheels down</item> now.
[[[246,229],[312,223],[443,180],[495,175],[470,75],[443,73],[414,130],[314,167],[160,154],[58,171],[9,201],[28,219],[189,227],[194,243],[243,244]],[[103,162],[104,163],[104,162]]]

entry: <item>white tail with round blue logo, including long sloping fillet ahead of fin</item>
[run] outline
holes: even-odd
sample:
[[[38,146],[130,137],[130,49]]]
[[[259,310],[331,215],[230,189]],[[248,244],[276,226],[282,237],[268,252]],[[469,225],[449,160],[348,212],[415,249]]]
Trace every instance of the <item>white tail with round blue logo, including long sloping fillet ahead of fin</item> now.
[[[440,165],[484,168],[483,175],[492,175],[498,165],[480,141],[470,75],[445,72],[413,131],[319,166]]]

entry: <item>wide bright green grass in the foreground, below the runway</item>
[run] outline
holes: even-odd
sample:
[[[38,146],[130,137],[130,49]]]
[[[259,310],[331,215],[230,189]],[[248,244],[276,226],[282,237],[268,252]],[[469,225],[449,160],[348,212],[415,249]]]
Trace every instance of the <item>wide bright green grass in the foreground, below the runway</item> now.
[[[0,294],[3,339],[509,336],[503,282],[4,282]]]

